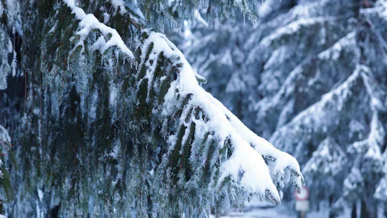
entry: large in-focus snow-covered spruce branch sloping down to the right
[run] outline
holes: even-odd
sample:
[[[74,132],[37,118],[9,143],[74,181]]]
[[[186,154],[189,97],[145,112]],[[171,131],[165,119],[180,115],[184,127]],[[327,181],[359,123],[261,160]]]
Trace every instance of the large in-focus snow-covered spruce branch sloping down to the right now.
[[[205,92],[200,87],[195,78],[196,73],[185,60],[183,54],[164,35],[149,30],[144,30],[143,33],[146,33],[147,36],[144,44],[140,46],[142,48],[141,59],[144,61],[140,64],[142,67],[139,69],[139,75],[141,75],[140,72],[146,72],[142,73],[144,78],[139,79],[139,89],[143,81],[147,81],[146,87],[148,87],[150,95],[151,89],[154,87],[152,84],[159,84],[156,77],[158,74],[155,73],[159,66],[152,63],[158,62],[160,55],[171,60],[171,65],[178,68],[178,72],[180,72],[178,78],[171,82],[170,88],[164,97],[165,102],[161,111],[164,118],[161,120],[167,122],[170,117],[175,117],[173,114],[176,109],[180,109],[178,106],[180,104],[176,105],[176,102],[180,102],[179,98],[185,99],[185,104],[180,109],[183,111],[183,116],[178,121],[177,126],[183,129],[181,133],[183,142],[187,140],[188,145],[192,146],[190,149],[192,151],[190,162],[192,163],[189,164],[193,166],[195,166],[195,156],[199,156],[200,159],[203,155],[200,151],[211,145],[205,144],[204,148],[195,146],[202,144],[200,141],[203,140],[203,137],[208,133],[210,134],[205,138],[209,140],[209,137],[211,137],[215,146],[212,149],[215,151],[212,154],[209,170],[214,173],[217,172],[219,177],[216,181],[210,180],[208,186],[215,189],[209,190],[221,190],[223,189],[221,186],[223,181],[229,180],[232,187],[243,190],[247,193],[247,196],[248,194],[256,194],[260,199],[267,199],[277,204],[281,201],[279,189],[283,188],[290,178],[293,180],[295,187],[300,190],[303,178],[296,159],[274,148],[269,142],[248,130],[218,100]],[[159,78],[160,82],[163,81],[162,78]],[[147,101],[152,102],[149,95]],[[197,115],[194,111],[197,111],[195,112]],[[163,125],[166,125],[166,123]],[[190,142],[188,130],[191,130],[192,127],[190,126],[192,125],[194,125],[195,132],[194,139]],[[171,147],[167,156],[164,156],[161,163],[163,167],[160,168],[159,166],[158,173],[165,170],[164,167],[168,168],[168,161],[170,156],[174,155],[174,149],[180,150],[179,147],[176,148],[177,142],[180,141],[177,139],[176,142],[178,135],[169,136],[168,141],[171,142]],[[228,147],[228,144],[230,147]],[[224,149],[231,150],[231,156],[227,156],[227,152],[223,152]],[[198,153],[195,154],[194,151]],[[184,152],[184,146],[179,153],[181,154],[181,152]],[[271,163],[266,164],[266,159],[270,159]],[[204,156],[204,160],[199,161],[197,167],[200,168],[203,164],[202,167],[205,170],[208,161],[209,159],[206,160]],[[197,167],[193,167],[193,169]]]

